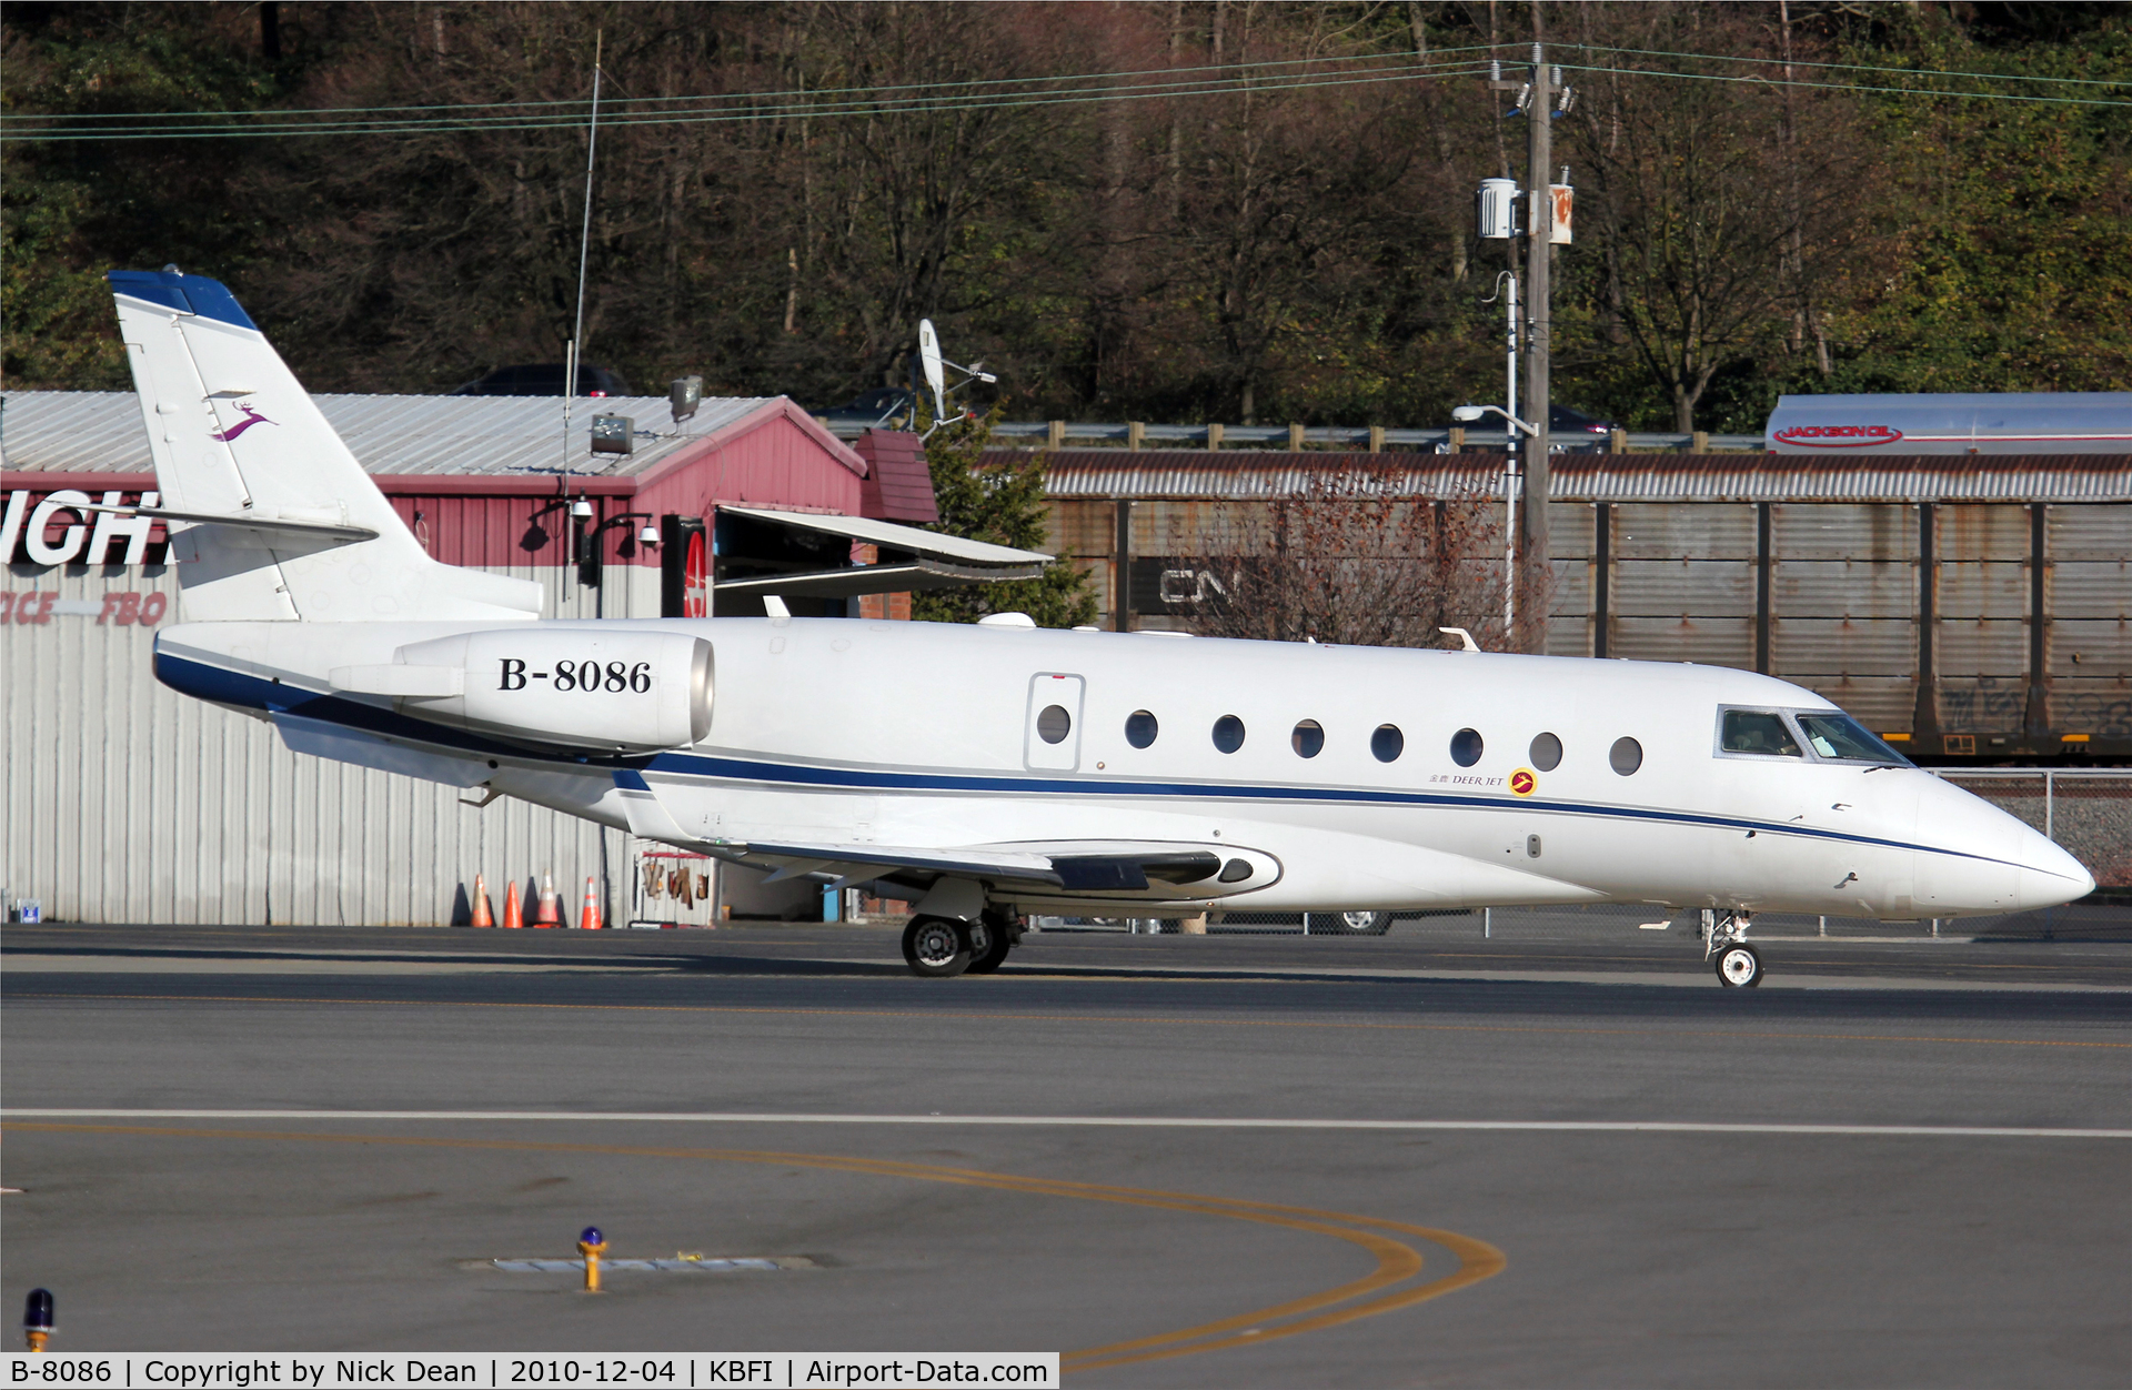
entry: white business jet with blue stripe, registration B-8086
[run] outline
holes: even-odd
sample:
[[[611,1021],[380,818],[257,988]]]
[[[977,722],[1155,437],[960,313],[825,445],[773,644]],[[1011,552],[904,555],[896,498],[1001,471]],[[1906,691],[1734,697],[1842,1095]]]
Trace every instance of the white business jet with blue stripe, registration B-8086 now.
[[[1701,910],[1718,979],[1755,985],[1755,912],[2094,887],[1827,699],[1723,667],[1008,614],[544,623],[537,584],[422,552],[222,284],[111,286],[183,591],[164,684],[298,753],[883,885],[919,974],[996,970],[1032,912],[1616,902]]]

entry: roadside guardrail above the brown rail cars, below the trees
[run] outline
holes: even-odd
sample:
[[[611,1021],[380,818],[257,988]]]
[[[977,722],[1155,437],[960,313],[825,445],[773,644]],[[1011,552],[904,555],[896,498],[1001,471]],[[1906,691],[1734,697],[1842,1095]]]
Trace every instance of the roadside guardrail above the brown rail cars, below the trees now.
[[[866,426],[859,424],[834,424],[829,426],[844,439],[855,439]],[[1303,450],[1303,448],[1335,448],[1335,450],[1373,450],[1384,452],[1386,448],[1420,450],[1433,454],[1450,454],[1456,448],[1477,450],[1477,452],[1501,452],[1507,446],[1507,431],[1480,431],[1480,429],[1384,429],[1369,424],[1143,424],[1136,420],[1100,424],[1085,420],[1006,420],[991,426],[991,437],[1000,441],[1043,441],[1049,448],[1196,448],[1196,450],[1220,450],[1220,448],[1273,448],[1273,450]],[[1669,433],[1646,433],[1646,431],[1625,431],[1614,437],[1603,435],[1563,435],[1556,437],[1552,452],[1567,450],[1588,450],[1599,454],[1614,452],[1637,452],[1637,454],[1665,454],[1665,452],[1693,452],[1703,454],[1712,450],[1727,452],[1763,452],[1761,435],[1669,435]]]

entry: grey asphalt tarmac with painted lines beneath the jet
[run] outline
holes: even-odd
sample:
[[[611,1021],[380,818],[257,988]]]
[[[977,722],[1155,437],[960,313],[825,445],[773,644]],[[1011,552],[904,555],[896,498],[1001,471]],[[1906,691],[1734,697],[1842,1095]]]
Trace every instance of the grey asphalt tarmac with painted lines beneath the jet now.
[[[2089,923],[2094,927],[2094,923]],[[1057,1349],[1085,1386],[2121,1386],[2132,934],[6,927],[58,1349]],[[64,1113],[62,1113],[64,1111]],[[497,1258],[770,1256],[608,1292]]]

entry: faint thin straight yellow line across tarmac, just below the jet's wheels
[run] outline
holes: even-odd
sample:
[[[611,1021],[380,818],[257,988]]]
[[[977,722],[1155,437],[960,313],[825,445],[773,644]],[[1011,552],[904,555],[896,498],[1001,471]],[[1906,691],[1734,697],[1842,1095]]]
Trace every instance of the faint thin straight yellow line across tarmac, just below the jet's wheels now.
[[[556,1008],[616,1013],[718,1013],[793,1019],[919,1019],[944,1023],[1160,1023],[1164,1028],[1305,1028],[1358,1032],[1497,1032],[1571,1034],[1584,1038],[1757,1038],[1780,1042],[1972,1042],[1976,1047],[2100,1047],[2132,1051],[2132,1042],[2083,1042],[2070,1038],[1944,1038],[1934,1034],[1872,1032],[1746,1032],[1735,1028],[1537,1028],[1512,1023],[1341,1023],[1328,1019],[1181,1019],[1115,1013],[991,1013],[932,1008],[776,1008],[768,1004],[533,1004],[507,1000],[322,1000],[271,993],[17,993],[30,1000],[117,1000],[158,1004],[354,1004],[365,1008]]]

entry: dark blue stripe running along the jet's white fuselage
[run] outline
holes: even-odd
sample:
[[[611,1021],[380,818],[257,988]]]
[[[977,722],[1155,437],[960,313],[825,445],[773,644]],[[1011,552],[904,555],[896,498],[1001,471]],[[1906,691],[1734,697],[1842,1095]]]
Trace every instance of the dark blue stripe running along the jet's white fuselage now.
[[[245,676],[188,657],[177,657],[158,646],[156,678],[183,695],[194,695],[222,706],[301,714],[324,723],[343,725],[362,733],[401,738],[450,748],[471,757],[512,757],[520,761],[559,763],[571,767],[601,767],[612,772],[618,787],[648,789],[644,772],[665,772],[676,776],[704,778],[712,782],[757,782],[765,787],[821,787],[855,791],[912,791],[912,793],[991,793],[991,795],[1102,795],[1102,797],[1200,797],[1230,802],[1296,802],[1296,804],[1345,804],[1345,806],[1414,806],[1414,808],[1463,808],[1463,810],[1539,810],[1573,817],[1614,817],[1620,821],[1646,821],[1659,825],[1701,825],[1710,829],[1738,829],[1774,836],[1799,836],[1806,840],[1829,840],[1840,844],[1870,844],[1876,848],[1910,848],[1955,859],[1978,859],[1983,863],[2008,863],[1989,855],[1940,848],[1936,844],[1915,844],[1910,840],[1883,840],[1840,829],[1816,829],[1789,821],[1753,821],[1744,817],[1718,817],[1693,810],[1654,810],[1648,806],[1616,806],[1590,802],[1544,802],[1537,797],[1473,797],[1431,791],[1369,791],[1360,787],[1269,787],[1228,782],[1126,782],[1126,780],[1070,780],[1040,776],[991,776],[968,772],[885,772],[876,767],[821,767],[806,763],[776,763],[763,759],[710,757],[701,753],[655,753],[648,757],[582,757],[537,748],[531,744],[507,744],[501,740],[465,733],[446,725],[409,718],[341,695],[322,695],[298,686]]]

